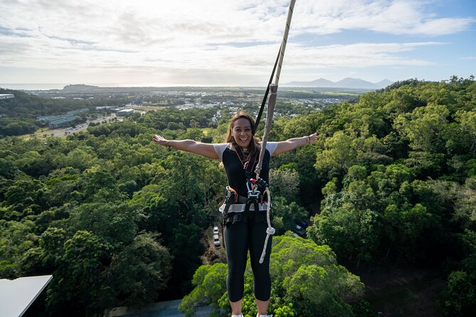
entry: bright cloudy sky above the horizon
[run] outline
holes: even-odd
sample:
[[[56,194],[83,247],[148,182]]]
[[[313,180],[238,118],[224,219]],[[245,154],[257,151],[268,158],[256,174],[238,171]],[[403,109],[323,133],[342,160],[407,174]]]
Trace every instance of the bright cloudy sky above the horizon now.
[[[288,7],[289,0],[0,0],[0,87],[263,87]],[[453,75],[476,75],[475,0],[296,1],[280,83]]]

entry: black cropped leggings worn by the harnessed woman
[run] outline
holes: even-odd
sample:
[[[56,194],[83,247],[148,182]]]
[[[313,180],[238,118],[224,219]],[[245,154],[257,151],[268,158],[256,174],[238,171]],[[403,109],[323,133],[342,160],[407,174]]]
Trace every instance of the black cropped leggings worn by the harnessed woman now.
[[[226,289],[231,302],[243,298],[246,257],[250,250],[251,269],[253,269],[255,298],[268,301],[271,294],[270,253],[272,237],[268,239],[266,256],[260,264],[261,252],[266,238],[268,224],[263,221],[256,222],[254,212],[245,215],[245,221],[229,222],[224,230],[226,259],[228,260],[228,276]]]

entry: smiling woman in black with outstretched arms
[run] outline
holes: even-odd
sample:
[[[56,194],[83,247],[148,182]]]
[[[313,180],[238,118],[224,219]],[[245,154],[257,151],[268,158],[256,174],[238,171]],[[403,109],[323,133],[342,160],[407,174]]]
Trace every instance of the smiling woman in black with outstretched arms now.
[[[204,144],[193,140],[172,141],[166,140],[159,135],[154,136],[152,141],[163,146],[171,146],[182,151],[200,154],[210,159],[219,159],[223,162],[226,176],[228,177],[228,193],[236,194],[234,201],[231,199],[232,203],[236,203],[234,206],[236,207],[239,204],[248,205],[245,204],[245,200],[249,201],[250,199],[248,195],[251,184],[250,180],[251,178],[258,179],[258,177],[255,177],[254,171],[260,155],[260,143],[259,139],[255,137],[254,129],[255,121],[250,114],[239,112],[231,118],[230,127],[223,144]],[[271,156],[277,156],[305,144],[314,143],[316,140],[317,134],[311,134],[310,136],[302,136],[301,138],[289,139],[287,141],[268,142],[266,144],[260,178],[268,183]],[[261,198],[263,199],[263,195],[261,195]],[[222,206],[221,210],[223,208]],[[228,208],[226,209],[228,210]],[[249,249],[258,316],[266,317],[268,316],[267,311],[271,292],[269,264],[272,239],[268,240],[266,255],[263,263],[260,264],[259,259],[268,227],[265,220],[265,211],[261,210],[263,208],[260,207],[258,207],[259,210],[255,210],[250,205],[247,208],[242,208],[245,210],[238,209],[231,208],[231,211],[228,213],[223,213],[224,217],[226,217],[223,239],[226,245],[226,258],[228,261],[226,288],[233,311],[232,316],[242,316],[243,276]]]

